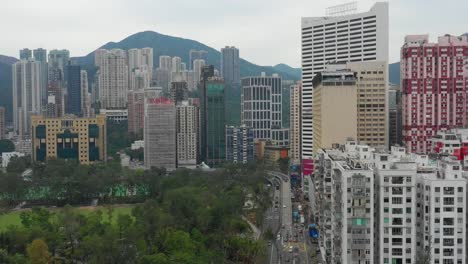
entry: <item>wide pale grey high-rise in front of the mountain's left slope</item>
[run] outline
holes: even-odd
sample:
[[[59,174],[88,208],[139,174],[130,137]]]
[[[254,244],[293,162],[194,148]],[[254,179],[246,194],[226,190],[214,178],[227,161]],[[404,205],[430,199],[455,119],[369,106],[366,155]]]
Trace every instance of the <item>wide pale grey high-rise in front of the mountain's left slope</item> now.
[[[127,107],[128,70],[125,51],[98,50],[95,53],[98,70],[99,101],[103,109]]]

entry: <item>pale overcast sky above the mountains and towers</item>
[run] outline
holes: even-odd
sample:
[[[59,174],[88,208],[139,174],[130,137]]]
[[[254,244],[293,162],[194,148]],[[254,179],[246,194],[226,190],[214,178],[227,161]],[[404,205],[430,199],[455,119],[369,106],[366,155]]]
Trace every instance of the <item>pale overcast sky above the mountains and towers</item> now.
[[[234,45],[260,65],[300,66],[303,16],[323,16],[346,0],[2,0],[0,54],[20,48],[68,49],[86,55],[140,31]],[[359,0],[367,11],[375,0]],[[407,34],[468,32],[467,0],[390,0],[390,62]]]

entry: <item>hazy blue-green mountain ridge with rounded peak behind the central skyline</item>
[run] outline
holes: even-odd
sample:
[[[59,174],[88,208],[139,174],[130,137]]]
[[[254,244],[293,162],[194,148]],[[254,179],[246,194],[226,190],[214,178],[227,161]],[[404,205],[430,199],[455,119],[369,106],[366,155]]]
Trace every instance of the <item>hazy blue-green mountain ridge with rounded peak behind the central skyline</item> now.
[[[207,51],[207,63],[214,65],[217,69],[220,68],[221,54],[218,50],[208,47],[205,44],[195,40],[163,35],[154,31],[139,32],[119,42],[109,42],[99,48],[128,50],[131,48],[141,49],[145,47],[153,48],[155,67],[159,66],[159,56],[161,55],[168,55],[171,57],[178,56],[182,59],[183,62],[187,63],[189,61],[189,51],[191,49],[196,49]],[[94,65],[94,51],[84,57],[75,57],[72,59],[79,65],[89,69],[90,66]],[[277,65],[279,68],[277,66],[259,66],[241,59],[241,76],[259,75],[261,72],[265,72],[268,75],[278,73],[283,77],[284,80],[300,79],[300,74],[297,74],[297,69],[293,69],[284,64],[279,65]]]

